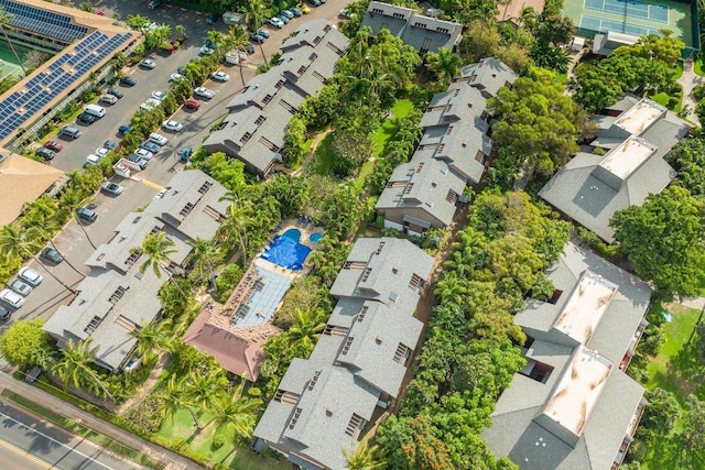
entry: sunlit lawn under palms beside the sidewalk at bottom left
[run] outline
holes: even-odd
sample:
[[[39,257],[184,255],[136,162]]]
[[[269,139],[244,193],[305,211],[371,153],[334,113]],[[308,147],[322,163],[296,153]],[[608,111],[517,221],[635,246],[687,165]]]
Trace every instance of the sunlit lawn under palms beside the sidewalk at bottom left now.
[[[202,425],[208,423],[210,417],[206,414],[198,415]],[[215,426],[202,429],[198,435],[191,413],[186,409],[178,411],[174,415],[174,424],[169,419],[162,423],[159,434],[170,440],[183,439],[196,452],[209,457],[215,462],[220,462],[231,469],[237,470],[290,470],[291,463],[278,461],[271,458],[262,458],[252,450],[234,444],[234,431],[224,430],[225,445],[219,449],[213,449],[212,442],[215,437]]]

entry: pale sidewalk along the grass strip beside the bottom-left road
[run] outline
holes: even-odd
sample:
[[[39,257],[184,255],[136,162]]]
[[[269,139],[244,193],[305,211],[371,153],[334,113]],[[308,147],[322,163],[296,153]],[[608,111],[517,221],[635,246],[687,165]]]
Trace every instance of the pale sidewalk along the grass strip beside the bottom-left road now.
[[[167,470],[198,470],[202,468],[199,464],[186,457],[172,452],[171,450],[166,450],[161,446],[128,433],[112,423],[97,418],[90,413],[84,412],[83,409],[66,403],[41,389],[29,385],[24,382],[19,382],[7,373],[0,373],[0,392],[2,390],[8,390],[31,400],[54,413],[80,423],[82,425],[108,436],[124,446],[148,455],[156,461],[167,462],[166,467],[164,467]]]

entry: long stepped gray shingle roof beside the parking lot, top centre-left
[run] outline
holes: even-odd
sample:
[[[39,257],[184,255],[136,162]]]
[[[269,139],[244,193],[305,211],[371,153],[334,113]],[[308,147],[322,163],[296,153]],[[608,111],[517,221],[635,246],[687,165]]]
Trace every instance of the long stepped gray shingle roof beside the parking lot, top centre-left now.
[[[282,44],[279,63],[252,77],[243,91],[232,97],[227,106],[230,114],[204,143],[208,152],[236,156],[247,171],[265,175],[281,153],[292,116],[333,76],[347,46],[347,37],[328,21],[303,23]]]

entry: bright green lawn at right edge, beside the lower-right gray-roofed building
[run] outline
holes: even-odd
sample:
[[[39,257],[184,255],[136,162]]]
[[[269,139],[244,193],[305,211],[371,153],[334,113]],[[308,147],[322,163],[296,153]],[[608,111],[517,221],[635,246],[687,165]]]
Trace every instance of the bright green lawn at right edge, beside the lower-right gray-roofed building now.
[[[698,363],[699,359],[687,348],[695,324],[701,318],[701,310],[677,304],[669,304],[668,310],[672,320],[663,325],[665,342],[661,352],[647,365],[651,379],[646,386],[659,386],[673,392],[681,404],[691,393],[699,392],[698,395],[703,398],[703,386],[691,381],[688,375],[693,364]]]

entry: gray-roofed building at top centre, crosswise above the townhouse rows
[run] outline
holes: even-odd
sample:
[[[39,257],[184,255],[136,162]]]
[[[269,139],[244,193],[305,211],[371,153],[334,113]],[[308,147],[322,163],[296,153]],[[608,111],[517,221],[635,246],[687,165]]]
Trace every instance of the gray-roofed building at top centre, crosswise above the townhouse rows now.
[[[452,50],[460,41],[463,25],[451,21],[425,17],[416,10],[389,3],[371,1],[362,26],[369,26],[372,35],[382,29],[401,37],[416,52],[436,52],[441,47]]]

